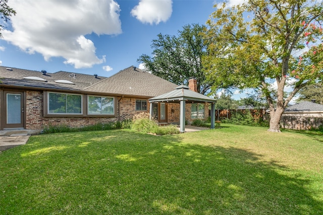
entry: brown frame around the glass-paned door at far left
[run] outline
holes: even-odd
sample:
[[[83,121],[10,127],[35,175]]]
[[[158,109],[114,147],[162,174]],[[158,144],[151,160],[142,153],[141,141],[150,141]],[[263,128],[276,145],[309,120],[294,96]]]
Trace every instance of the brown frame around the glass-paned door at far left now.
[[[21,95],[21,123],[7,124],[7,94],[20,94]],[[3,89],[1,92],[1,122],[0,129],[6,128],[25,128],[26,127],[26,93],[23,90]]]

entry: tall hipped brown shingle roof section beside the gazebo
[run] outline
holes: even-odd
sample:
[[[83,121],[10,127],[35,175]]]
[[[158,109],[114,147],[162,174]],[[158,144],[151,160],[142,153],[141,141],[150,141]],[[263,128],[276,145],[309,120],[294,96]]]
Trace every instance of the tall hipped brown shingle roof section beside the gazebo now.
[[[84,90],[119,95],[155,97],[168,93],[176,87],[178,86],[165,79],[130,66]]]

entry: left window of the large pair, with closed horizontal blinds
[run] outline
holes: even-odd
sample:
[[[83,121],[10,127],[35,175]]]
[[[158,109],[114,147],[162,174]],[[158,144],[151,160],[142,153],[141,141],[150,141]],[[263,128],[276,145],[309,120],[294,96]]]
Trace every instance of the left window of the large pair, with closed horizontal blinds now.
[[[48,93],[49,114],[82,114],[82,96]]]

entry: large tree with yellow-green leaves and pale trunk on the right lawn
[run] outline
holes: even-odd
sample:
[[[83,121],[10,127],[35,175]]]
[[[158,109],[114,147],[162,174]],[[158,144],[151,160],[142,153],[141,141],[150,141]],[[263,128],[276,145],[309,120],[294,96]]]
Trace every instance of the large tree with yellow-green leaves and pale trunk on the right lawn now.
[[[280,132],[281,116],[294,95],[322,79],[322,15],[322,1],[249,0],[232,8],[224,4],[207,21],[207,77],[223,87],[259,90],[270,108],[269,130]],[[287,85],[292,91],[284,98]]]

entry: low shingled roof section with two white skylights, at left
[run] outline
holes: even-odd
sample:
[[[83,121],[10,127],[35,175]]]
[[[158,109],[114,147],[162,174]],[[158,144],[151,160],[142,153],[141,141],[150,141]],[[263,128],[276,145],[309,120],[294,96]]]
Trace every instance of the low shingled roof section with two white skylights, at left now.
[[[25,79],[26,77],[37,77],[46,81]],[[69,73],[58,71],[57,73],[45,73],[20,68],[0,66],[1,86],[41,88],[41,89],[60,89],[60,90],[83,90],[106,77],[94,77],[79,73]],[[58,83],[56,81],[66,80],[74,84]]]

